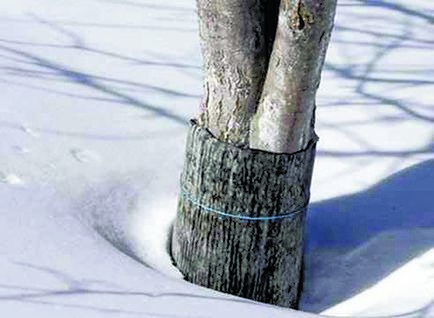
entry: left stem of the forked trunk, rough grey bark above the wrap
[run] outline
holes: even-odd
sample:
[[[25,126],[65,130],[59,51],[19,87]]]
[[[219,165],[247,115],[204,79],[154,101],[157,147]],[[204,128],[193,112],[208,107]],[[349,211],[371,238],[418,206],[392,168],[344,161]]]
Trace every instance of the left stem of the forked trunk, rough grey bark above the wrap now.
[[[248,147],[277,24],[278,0],[198,0],[204,60],[199,122]]]

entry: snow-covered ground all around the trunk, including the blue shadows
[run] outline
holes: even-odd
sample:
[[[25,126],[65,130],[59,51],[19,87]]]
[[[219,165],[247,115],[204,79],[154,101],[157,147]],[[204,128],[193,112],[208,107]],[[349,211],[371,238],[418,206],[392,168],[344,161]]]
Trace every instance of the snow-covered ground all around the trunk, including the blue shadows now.
[[[339,3],[302,309],[434,316],[434,4]],[[201,95],[193,0],[0,2],[0,317],[299,317],[165,249]]]

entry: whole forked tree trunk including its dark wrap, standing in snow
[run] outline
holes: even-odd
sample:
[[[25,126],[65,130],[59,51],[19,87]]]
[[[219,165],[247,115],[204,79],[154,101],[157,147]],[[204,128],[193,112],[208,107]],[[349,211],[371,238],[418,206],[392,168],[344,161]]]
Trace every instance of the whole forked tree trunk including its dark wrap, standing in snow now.
[[[297,306],[336,0],[198,0],[204,98],[172,238],[188,281]]]

